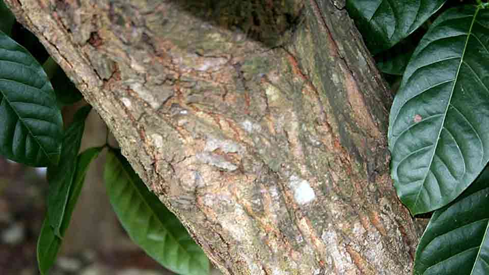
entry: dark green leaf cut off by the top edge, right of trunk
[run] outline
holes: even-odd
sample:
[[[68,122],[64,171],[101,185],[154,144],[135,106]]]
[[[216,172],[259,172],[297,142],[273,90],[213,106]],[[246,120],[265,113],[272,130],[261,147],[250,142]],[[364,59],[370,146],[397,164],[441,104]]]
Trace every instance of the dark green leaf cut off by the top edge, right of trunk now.
[[[347,0],[348,14],[372,52],[384,51],[419,28],[446,0]]]

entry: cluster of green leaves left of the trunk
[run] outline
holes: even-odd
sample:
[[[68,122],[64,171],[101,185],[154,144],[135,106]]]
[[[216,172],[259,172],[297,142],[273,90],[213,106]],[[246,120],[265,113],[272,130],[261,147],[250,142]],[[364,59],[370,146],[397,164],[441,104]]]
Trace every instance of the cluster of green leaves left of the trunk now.
[[[182,275],[208,274],[203,251],[119,150],[104,144],[80,152],[92,107],[79,108],[64,127],[61,108],[82,100],[83,95],[35,36],[15,21],[2,0],[0,18],[0,155],[47,167],[47,214],[37,245],[40,273],[48,274],[55,263],[90,163],[107,148],[105,186],[129,237],[170,270]]]

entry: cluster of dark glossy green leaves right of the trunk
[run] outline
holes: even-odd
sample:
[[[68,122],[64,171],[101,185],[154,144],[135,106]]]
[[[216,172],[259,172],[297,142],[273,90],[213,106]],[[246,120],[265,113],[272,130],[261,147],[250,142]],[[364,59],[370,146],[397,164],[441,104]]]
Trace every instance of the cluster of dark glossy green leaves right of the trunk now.
[[[489,4],[348,0],[396,86],[391,177],[413,215],[432,212],[414,274],[489,274]],[[372,39],[371,39],[372,38]]]

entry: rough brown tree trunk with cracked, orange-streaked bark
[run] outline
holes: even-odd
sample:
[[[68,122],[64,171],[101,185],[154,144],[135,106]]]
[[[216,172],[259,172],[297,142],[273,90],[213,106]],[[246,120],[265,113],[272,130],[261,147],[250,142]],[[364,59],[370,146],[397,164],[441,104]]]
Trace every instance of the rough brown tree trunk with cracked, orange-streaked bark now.
[[[6,0],[226,274],[409,274],[391,96],[344,0]]]

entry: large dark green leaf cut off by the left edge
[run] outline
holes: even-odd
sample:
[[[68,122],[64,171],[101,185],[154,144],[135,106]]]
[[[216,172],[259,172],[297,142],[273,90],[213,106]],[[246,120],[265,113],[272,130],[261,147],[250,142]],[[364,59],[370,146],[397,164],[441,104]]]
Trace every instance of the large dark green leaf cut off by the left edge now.
[[[58,163],[63,120],[41,65],[0,32],[0,154],[36,167]]]

